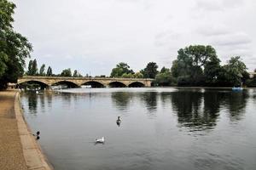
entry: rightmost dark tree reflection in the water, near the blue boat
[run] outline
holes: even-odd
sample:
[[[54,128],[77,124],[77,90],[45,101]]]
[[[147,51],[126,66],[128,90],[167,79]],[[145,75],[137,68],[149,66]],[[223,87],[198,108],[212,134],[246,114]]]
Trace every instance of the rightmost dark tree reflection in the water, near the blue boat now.
[[[241,116],[245,112],[248,97],[247,90],[244,90],[243,92],[232,92],[226,98],[230,110],[231,121],[241,120]]]

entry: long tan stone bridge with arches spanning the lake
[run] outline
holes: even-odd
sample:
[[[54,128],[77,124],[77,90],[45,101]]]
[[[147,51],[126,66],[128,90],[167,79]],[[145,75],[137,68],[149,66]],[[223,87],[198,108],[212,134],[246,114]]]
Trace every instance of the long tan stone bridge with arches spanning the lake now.
[[[45,88],[54,85],[66,84],[70,88],[90,85],[92,88],[125,88],[151,87],[153,79],[145,78],[107,78],[107,77],[20,77],[18,84],[24,82],[39,83]]]

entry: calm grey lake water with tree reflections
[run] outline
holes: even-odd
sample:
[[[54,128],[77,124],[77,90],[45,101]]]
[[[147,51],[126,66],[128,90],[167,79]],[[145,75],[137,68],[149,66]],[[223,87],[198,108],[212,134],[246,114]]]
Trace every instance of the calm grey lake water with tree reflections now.
[[[21,102],[56,170],[256,169],[253,89],[79,88]]]

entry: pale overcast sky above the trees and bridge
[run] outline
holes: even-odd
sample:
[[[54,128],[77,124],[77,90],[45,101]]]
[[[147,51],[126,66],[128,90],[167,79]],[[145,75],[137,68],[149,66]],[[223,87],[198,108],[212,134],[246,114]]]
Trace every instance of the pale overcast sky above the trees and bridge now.
[[[133,71],[156,62],[171,68],[177,50],[212,45],[222,64],[241,56],[256,68],[255,0],[13,0],[15,31],[32,43],[32,59],[55,74],[109,75],[119,62]]]

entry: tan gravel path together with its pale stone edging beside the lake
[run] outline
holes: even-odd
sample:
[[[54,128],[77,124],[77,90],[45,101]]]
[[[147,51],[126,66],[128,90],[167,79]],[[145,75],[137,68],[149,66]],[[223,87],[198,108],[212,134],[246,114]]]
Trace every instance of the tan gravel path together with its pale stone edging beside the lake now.
[[[2,106],[0,122],[6,127],[0,130],[0,137],[3,135],[4,138],[0,140],[3,150],[1,169],[53,169],[24,119],[20,92],[1,91],[0,97]],[[10,127],[11,131],[7,129]]]

